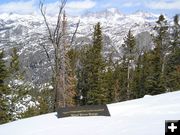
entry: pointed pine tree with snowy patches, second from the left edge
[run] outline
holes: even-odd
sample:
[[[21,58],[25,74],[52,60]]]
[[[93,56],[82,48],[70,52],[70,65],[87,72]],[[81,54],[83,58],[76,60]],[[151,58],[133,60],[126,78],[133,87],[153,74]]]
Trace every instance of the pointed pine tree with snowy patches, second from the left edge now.
[[[10,86],[10,95],[9,97],[9,113],[11,116],[11,121],[16,120],[21,117],[17,113],[18,108],[16,104],[23,102],[23,97],[28,93],[28,88],[24,81],[23,72],[20,71],[20,61],[19,55],[16,48],[12,49],[11,61],[9,67],[9,86]]]

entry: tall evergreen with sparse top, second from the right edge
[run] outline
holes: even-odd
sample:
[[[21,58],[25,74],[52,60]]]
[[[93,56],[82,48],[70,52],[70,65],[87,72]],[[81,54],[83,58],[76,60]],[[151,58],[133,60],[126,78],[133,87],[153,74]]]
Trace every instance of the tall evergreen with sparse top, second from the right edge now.
[[[156,36],[154,37],[155,48],[147,55],[148,76],[145,80],[146,94],[160,94],[166,91],[165,67],[166,57],[169,52],[168,25],[163,15],[159,16],[155,26]]]

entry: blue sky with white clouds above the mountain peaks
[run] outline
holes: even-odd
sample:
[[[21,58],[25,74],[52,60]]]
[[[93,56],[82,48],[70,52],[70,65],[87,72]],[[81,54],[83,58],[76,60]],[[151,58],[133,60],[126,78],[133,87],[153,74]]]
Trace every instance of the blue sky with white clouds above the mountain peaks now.
[[[47,13],[56,14],[58,1],[45,1]],[[71,15],[98,12],[107,8],[118,8],[125,14],[136,11],[174,16],[180,14],[180,0],[67,0],[66,11]],[[39,13],[39,0],[0,0],[0,13]]]

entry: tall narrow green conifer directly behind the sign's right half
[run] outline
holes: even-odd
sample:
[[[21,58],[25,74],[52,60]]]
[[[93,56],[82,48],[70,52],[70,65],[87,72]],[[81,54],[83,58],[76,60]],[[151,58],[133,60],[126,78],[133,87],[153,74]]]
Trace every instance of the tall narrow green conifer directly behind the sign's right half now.
[[[88,65],[88,87],[87,103],[104,104],[107,102],[107,92],[104,88],[104,68],[105,62],[102,56],[103,42],[100,23],[94,27],[93,45],[89,50]]]

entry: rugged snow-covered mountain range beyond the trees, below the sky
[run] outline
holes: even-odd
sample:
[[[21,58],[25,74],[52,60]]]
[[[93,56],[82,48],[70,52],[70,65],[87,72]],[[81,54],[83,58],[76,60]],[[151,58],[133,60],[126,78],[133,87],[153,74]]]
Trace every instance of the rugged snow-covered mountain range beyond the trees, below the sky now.
[[[57,16],[49,16],[49,24],[54,26],[56,19]],[[145,35],[145,38],[142,36],[138,38],[138,43],[142,43],[141,46],[150,42],[149,32],[152,32],[157,19],[158,15],[155,14],[136,12],[126,15],[115,8],[67,18],[69,33],[74,31],[76,23],[80,20],[74,46],[90,43],[93,26],[97,22],[101,22],[104,34],[104,53],[107,54],[109,50],[115,49],[116,57],[121,53],[123,38],[129,29],[134,35],[143,32],[141,35]],[[17,47],[22,61],[22,69],[26,71],[26,78],[38,84],[45,83],[50,79],[50,66],[42,46],[39,45],[42,42],[40,39],[46,37],[47,40],[46,35],[47,31],[41,15],[0,14],[0,48],[8,50],[6,58],[9,59],[10,48]],[[44,39],[43,42],[47,44],[49,52],[53,54],[53,49],[46,40]],[[146,41],[144,42],[144,40]]]

